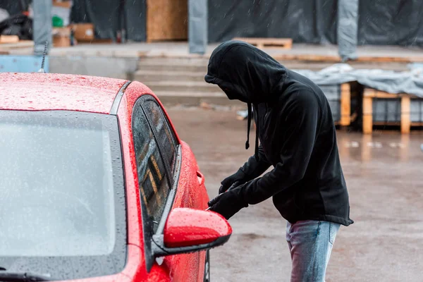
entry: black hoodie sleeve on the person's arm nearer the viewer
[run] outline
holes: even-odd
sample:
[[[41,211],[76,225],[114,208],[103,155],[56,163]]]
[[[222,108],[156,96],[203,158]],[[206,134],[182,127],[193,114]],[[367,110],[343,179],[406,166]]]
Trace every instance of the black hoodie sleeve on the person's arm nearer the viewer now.
[[[311,157],[318,131],[320,106],[316,94],[294,91],[278,114],[281,132],[280,161],[262,178],[245,183],[240,195],[257,204],[301,180]]]

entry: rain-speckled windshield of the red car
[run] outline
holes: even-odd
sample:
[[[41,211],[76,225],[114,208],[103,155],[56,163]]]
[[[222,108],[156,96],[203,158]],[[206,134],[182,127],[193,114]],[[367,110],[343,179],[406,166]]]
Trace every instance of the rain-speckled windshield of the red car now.
[[[121,271],[126,223],[116,116],[0,111],[0,133],[0,267],[66,279]],[[96,260],[102,267],[84,266]]]

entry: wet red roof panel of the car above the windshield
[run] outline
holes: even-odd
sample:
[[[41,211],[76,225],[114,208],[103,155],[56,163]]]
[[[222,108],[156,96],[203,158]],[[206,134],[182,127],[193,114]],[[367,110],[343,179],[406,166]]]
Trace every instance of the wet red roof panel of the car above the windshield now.
[[[0,73],[0,109],[109,114],[125,82],[88,75]]]

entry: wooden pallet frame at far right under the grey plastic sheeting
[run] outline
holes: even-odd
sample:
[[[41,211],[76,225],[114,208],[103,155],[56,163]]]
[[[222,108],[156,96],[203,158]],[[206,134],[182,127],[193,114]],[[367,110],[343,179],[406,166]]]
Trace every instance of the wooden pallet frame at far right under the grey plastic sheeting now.
[[[373,121],[373,99],[400,99],[400,121],[378,122]],[[373,125],[400,125],[401,133],[410,133],[412,126],[423,126],[423,122],[412,122],[410,118],[410,108],[412,99],[423,100],[423,98],[415,97],[410,94],[392,94],[384,91],[365,88],[363,93],[363,124],[362,130],[364,134],[373,132]]]

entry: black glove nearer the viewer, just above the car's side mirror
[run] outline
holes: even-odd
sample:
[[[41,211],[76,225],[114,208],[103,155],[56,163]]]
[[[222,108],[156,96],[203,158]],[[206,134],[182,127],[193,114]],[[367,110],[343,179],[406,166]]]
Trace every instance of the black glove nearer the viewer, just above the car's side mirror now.
[[[230,219],[234,214],[248,204],[243,199],[243,185],[223,192],[208,202],[211,211],[221,214],[225,219]]]

